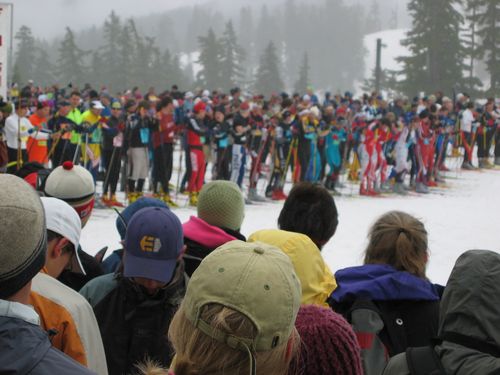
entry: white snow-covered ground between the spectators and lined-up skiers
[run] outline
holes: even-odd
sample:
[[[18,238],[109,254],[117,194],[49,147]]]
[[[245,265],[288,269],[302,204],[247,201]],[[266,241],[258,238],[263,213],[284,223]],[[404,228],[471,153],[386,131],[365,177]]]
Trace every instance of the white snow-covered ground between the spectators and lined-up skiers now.
[[[457,161],[450,160],[449,166],[455,168]],[[339,211],[337,233],[323,249],[332,271],[362,263],[368,229],[388,210],[406,211],[425,223],[431,254],[428,276],[434,282],[446,282],[456,258],[465,250],[499,251],[500,170],[455,170],[446,175],[446,188],[433,189],[432,194],[421,196],[359,197],[357,186],[346,183],[344,195],[335,197]],[[179,200],[185,197],[179,196]],[[246,206],[243,234],[276,228],[281,207],[282,203],[271,201]],[[175,213],[184,222],[190,215],[196,215],[196,210],[183,206],[175,209]],[[109,246],[109,252],[118,248],[116,216],[112,210],[94,210],[82,232],[86,251],[93,254],[104,246]]]

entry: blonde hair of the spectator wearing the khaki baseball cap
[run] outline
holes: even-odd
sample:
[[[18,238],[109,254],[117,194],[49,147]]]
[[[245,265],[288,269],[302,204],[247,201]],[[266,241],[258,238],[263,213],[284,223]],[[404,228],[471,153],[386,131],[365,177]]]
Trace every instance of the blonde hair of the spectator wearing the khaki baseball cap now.
[[[253,338],[257,333],[255,326],[246,316],[218,304],[205,306],[201,317],[211,326],[239,337]],[[248,374],[248,353],[232,349],[195,328],[187,319],[183,305],[170,324],[168,336],[176,353],[173,368],[175,375]],[[290,362],[298,353],[299,345],[300,338],[294,328],[289,344],[255,353],[257,374],[287,374]]]

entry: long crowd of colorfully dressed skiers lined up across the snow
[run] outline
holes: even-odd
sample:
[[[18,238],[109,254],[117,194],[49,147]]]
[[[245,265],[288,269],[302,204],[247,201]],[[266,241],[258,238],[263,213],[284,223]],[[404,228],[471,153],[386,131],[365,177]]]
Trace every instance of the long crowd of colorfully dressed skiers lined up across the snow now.
[[[333,194],[346,179],[359,181],[361,195],[428,193],[444,182],[447,158],[474,169],[477,152],[477,167],[500,165],[499,103],[461,93],[391,101],[376,93],[326,93],[320,102],[312,89],[265,98],[239,88],[183,93],[173,86],[161,94],[150,88],[111,96],[90,86],[28,85],[21,94],[0,103],[0,167],[13,173],[27,162],[84,165],[103,181],[97,203],[108,206],[122,205],[119,188],[129,203],[149,188],[171,207],[177,191],[196,206],[208,180],[235,182],[248,203],[263,195],[284,200],[288,176]],[[182,169],[177,181],[174,149]]]

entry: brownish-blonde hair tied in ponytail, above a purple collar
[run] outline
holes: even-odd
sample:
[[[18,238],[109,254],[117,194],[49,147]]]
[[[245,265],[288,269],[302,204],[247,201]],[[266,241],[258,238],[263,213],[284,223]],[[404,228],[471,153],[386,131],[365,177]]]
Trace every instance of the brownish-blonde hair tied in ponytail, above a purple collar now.
[[[389,211],[370,228],[365,264],[388,264],[425,278],[427,231],[417,218]]]

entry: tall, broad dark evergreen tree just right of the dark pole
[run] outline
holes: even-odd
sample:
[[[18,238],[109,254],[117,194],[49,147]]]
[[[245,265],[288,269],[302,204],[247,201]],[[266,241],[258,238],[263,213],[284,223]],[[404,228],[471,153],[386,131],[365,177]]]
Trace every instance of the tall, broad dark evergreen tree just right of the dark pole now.
[[[411,0],[408,11],[413,25],[401,44],[410,50],[399,57],[405,79],[401,89],[411,96],[419,91],[451,93],[463,81],[464,49],[460,40],[463,17],[460,0]]]

